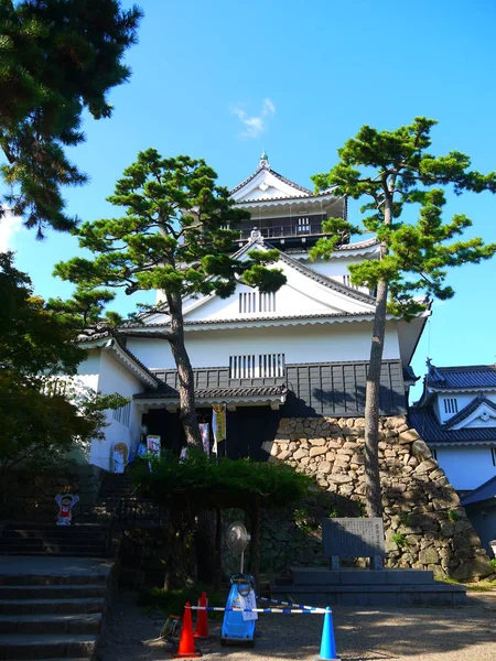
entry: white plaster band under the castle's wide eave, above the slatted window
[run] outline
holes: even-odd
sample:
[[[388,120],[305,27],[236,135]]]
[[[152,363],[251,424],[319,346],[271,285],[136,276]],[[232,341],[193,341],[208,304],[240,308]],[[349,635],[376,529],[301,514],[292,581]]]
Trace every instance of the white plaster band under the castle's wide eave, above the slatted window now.
[[[229,356],[285,354],[287,364],[368,360],[371,324],[283,326],[236,330],[188,332],[186,349],[193,367],[229,365]],[[175,369],[166,340],[129,338],[128,348],[147,367]],[[393,326],[386,332],[385,359],[398,359],[398,336]]]

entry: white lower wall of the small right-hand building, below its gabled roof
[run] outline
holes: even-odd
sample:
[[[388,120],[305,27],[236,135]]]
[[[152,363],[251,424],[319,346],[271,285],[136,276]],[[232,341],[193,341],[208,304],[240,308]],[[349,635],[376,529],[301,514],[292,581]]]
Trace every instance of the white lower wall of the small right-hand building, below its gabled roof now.
[[[488,446],[440,447],[436,455],[455,489],[475,489],[496,475]]]

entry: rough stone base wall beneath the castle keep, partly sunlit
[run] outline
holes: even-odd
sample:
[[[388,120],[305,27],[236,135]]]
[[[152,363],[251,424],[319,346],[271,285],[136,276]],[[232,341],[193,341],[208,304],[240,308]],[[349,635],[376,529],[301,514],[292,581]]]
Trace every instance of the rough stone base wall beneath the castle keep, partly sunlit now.
[[[336,503],[338,516],[347,516],[344,503],[355,505],[355,516],[359,516],[365,495],[364,432],[363,418],[285,418],[266,449],[270,460],[285,462],[313,476],[317,490]],[[455,579],[492,573],[455,490],[403,416],[380,420],[379,463],[387,566],[432,570]],[[271,532],[266,522],[266,560],[270,562],[277,548],[287,554],[287,562],[323,563],[320,529],[298,521],[293,525],[299,531],[295,535],[282,525]]]

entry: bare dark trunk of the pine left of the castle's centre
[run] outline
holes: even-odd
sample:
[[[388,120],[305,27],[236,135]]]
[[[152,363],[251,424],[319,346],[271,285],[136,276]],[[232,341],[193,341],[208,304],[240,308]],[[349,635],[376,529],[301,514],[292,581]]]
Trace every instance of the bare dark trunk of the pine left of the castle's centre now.
[[[190,356],[184,345],[183,302],[180,294],[168,294],[169,311],[171,314],[171,345],[172,356],[177,367],[177,381],[180,394],[180,420],[184,429],[187,445],[202,447],[198,421],[195,411],[195,382]]]

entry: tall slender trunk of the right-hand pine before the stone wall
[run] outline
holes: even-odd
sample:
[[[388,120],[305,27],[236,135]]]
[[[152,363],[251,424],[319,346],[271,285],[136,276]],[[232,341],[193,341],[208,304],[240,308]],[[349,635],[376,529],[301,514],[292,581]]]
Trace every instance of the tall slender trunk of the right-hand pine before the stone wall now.
[[[387,297],[388,284],[381,280],[377,285],[377,307],[365,391],[365,500],[368,517],[382,517],[379,476],[379,395]]]

